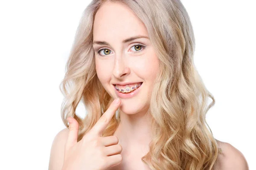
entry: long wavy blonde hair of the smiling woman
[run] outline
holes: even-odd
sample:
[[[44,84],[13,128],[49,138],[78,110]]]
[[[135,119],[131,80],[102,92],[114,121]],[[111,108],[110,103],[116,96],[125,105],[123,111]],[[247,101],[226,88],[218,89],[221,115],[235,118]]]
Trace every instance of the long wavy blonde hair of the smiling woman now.
[[[106,1],[131,8],[145,24],[160,61],[160,69],[147,113],[152,115],[153,139],[141,158],[152,170],[211,170],[218,148],[206,113],[215,104],[193,62],[195,39],[189,15],[180,0],[93,0],[84,10],[66,65],[60,89],[65,98],[61,118],[79,122],[82,139],[108,109],[113,98],[96,75],[93,50],[93,20]],[[207,106],[208,96],[212,102]],[[87,110],[84,119],[76,115],[79,102]],[[112,136],[120,122],[119,110],[102,133]],[[209,127],[209,126],[208,126]]]

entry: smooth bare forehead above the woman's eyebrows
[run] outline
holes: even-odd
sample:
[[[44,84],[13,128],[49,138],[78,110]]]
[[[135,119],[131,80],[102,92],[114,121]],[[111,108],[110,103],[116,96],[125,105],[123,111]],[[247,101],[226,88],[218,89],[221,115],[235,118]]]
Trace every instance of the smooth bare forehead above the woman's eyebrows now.
[[[138,34],[148,36],[148,31],[128,6],[106,2],[96,12],[93,40],[124,40]]]

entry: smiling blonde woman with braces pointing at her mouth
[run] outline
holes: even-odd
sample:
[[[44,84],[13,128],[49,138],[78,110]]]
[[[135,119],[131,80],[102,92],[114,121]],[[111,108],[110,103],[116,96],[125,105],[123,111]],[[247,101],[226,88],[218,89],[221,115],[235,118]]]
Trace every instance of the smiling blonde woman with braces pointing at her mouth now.
[[[54,139],[49,170],[247,170],[243,154],[207,128],[215,100],[194,49],[179,0],[93,0],[67,62],[69,129]],[[75,114],[81,99],[84,119]]]

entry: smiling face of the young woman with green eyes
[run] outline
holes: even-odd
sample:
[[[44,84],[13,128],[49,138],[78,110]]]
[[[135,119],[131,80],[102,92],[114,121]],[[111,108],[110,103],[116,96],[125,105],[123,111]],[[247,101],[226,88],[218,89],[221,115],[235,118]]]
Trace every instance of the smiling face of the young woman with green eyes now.
[[[137,36],[143,37],[123,42]],[[106,2],[97,11],[93,26],[93,42],[98,42],[93,43],[97,76],[113,99],[121,99],[120,110],[127,114],[148,109],[157,76],[159,61],[146,37],[145,25],[123,4]],[[130,88],[120,86],[126,84]],[[117,91],[115,85],[130,93]]]

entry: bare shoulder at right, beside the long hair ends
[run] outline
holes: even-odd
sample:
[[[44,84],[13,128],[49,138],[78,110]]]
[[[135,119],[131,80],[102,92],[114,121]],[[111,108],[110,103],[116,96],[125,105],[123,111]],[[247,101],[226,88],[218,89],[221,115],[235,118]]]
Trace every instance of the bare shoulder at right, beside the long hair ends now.
[[[244,155],[236,147],[218,140],[217,143],[223,154],[219,154],[215,170],[249,170]]]

